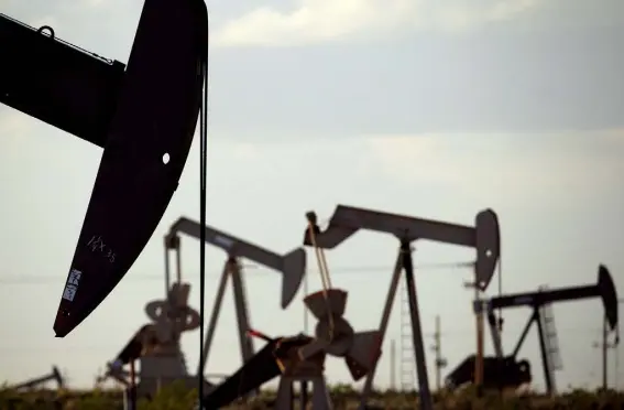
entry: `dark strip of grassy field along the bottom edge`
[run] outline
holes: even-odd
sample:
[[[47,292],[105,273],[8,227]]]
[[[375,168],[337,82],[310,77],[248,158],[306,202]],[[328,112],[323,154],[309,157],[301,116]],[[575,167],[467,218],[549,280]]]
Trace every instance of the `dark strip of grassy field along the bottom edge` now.
[[[357,392],[349,387],[340,386],[332,389],[333,404],[337,410],[355,409]],[[274,392],[264,391],[260,397],[248,403],[237,403],[230,409],[263,410],[273,408]],[[190,410],[196,400],[195,391],[185,390],[178,386],[163,389],[152,401],[142,400],[138,410]],[[415,409],[417,396],[402,392],[376,392],[371,400],[375,409]],[[119,390],[91,391],[51,391],[40,390],[20,393],[12,390],[0,391],[0,409],[2,410],[122,410],[123,399]],[[501,409],[501,410],[620,410],[624,409],[624,393],[615,391],[592,392],[576,390],[556,398],[526,395],[522,397],[502,396],[499,393],[474,398],[467,390],[459,395],[436,395],[438,410],[469,409]]]

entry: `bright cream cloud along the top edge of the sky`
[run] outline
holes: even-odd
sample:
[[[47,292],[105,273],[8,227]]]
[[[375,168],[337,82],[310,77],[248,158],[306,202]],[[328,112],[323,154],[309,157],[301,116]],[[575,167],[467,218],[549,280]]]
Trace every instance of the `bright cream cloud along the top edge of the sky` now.
[[[514,19],[538,4],[537,0],[302,0],[294,10],[259,7],[226,22],[215,43],[288,46],[402,29],[463,31]]]

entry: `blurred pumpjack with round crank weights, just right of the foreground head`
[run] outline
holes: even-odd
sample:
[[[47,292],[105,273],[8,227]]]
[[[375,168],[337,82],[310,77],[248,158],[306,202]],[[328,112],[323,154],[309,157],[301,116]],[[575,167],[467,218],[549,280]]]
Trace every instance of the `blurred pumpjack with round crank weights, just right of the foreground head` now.
[[[248,258],[281,274],[282,308],[286,308],[292,302],[299,289],[306,268],[304,249],[297,248],[282,256],[214,227],[201,226],[191,219],[185,217],[177,219],[172,224],[164,238],[166,298],[146,304],[145,313],[152,320],[152,323],[142,326],[107,366],[108,371],[105,377],[111,377],[125,386],[129,402],[133,402],[135,397],[153,396],[160,387],[174,380],[182,380],[190,388],[197,385],[197,377],[187,371],[185,355],[179,345],[183,333],[194,331],[200,325],[198,312],[188,305],[190,284],[183,281],[180,234],[200,238],[201,230],[206,234],[207,244],[223,249],[228,253],[208,326],[205,355],[200,358],[201,362],[206,362],[208,358],[229,278],[232,279],[234,305],[239,321],[242,363],[247,363],[253,356],[253,345],[248,335],[250,323],[244,278],[241,274],[239,258]],[[175,253],[175,263],[173,263],[175,272],[173,279],[175,281],[173,284],[169,266],[172,265],[169,258],[172,251]],[[138,374],[134,371],[135,362],[140,364]],[[138,384],[134,381],[135,376],[139,379]],[[204,380],[204,387],[206,391],[210,391],[214,385]]]

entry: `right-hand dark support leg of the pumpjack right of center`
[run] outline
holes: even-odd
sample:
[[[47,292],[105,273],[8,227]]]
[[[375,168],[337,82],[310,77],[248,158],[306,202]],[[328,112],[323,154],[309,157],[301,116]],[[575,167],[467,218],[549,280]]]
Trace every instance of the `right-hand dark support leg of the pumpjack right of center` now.
[[[414,356],[416,360],[416,373],[418,376],[418,396],[420,398],[422,410],[433,410],[434,400],[429,390],[429,375],[427,373],[427,359],[423,343],[423,327],[420,324],[420,313],[418,309],[418,298],[416,294],[416,280],[414,279],[414,262],[412,260],[410,244],[401,244],[403,253],[403,268],[405,269],[405,283],[407,285],[407,296],[409,301],[409,314],[412,316],[412,339],[414,343]]]

